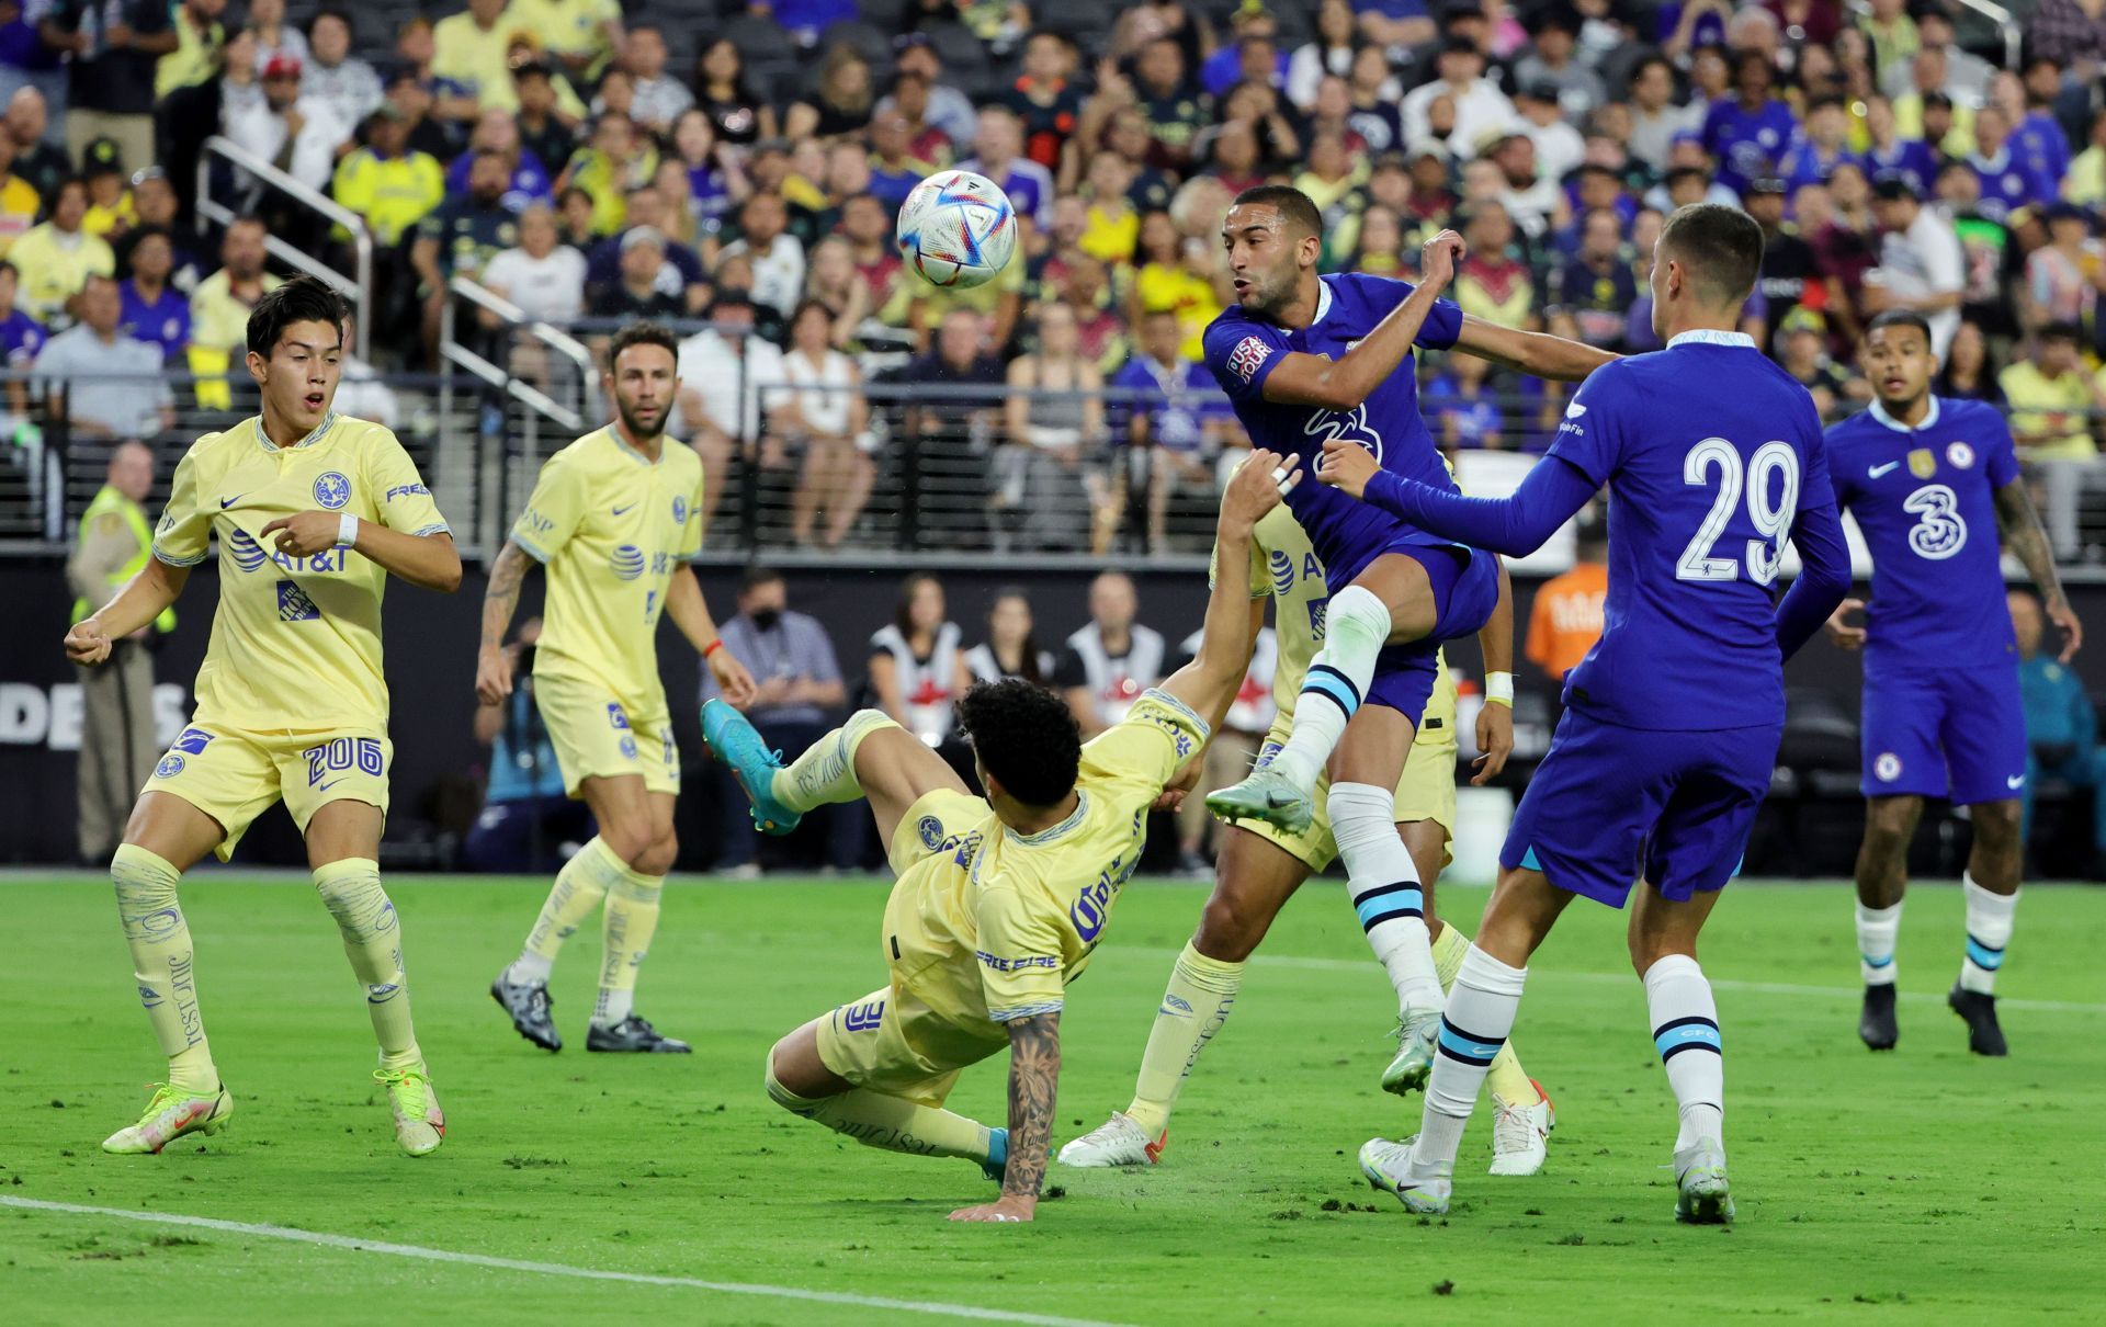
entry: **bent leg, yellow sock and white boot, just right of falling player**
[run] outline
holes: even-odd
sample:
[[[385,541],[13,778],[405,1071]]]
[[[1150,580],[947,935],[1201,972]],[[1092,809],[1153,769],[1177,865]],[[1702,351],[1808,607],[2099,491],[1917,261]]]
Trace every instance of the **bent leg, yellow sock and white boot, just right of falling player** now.
[[[1200,1053],[1228,1022],[1243,988],[1243,965],[1266,937],[1280,906],[1310,868],[1259,832],[1228,826],[1221,834],[1219,878],[1198,929],[1171,965],[1169,986],[1148,1030],[1133,1102],[1059,1150],[1072,1167],[1154,1165],[1169,1144],[1177,1093]]]

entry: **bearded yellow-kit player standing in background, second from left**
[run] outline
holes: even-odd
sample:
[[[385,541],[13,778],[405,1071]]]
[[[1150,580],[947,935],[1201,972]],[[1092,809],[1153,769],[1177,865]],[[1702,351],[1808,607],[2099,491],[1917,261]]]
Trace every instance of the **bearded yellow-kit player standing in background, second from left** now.
[[[512,695],[505,628],[533,565],[548,573],[535,649],[533,699],[562,767],[562,788],[592,807],[600,832],[550,889],[520,956],[491,996],[520,1036],[562,1049],[548,975],[562,942],[600,908],[600,998],[588,1051],[687,1051],[634,1011],[636,973],[657,931],[659,893],[678,843],[672,832],[680,752],[657,674],[657,623],[672,617],[727,697],[743,704],[754,678],[724,649],[689,558],[701,548],[701,459],[665,436],[680,388],[678,341],[657,322],[623,326],[607,350],[602,390],[615,421],[541,466],[482,598],[476,695]]]

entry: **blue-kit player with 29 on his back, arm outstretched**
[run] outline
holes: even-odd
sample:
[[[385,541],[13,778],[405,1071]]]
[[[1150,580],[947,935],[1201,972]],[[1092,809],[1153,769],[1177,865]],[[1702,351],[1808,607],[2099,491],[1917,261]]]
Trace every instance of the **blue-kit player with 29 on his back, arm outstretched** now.
[[[1849,590],[1813,398],[1733,331],[1763,265],[1737,209],[1668,217],[1653,249],[1666,350],[1580,388],[1550,455],[1508,499],[1468,499],[1325,447],[1316,476],[1478,548],[1533,552],[1609,484],[1607,628],[1565,682],[1565,718],[1499,853],[1499,883],[1441,1019],[1426,1114],[1373,1140],[1360,1169],[1405,1207],[1447,1211],[1455,1146],[1506,1045],[1529,954],[1565,904],[1622,908],[1638,878],[1630,958],[1681,1106],[1678,1217],[1731,1220],[1725,1057],[1697,931],[1740,868],[1784,735],[1784,659]],[[1790,537],[1805,571],[1771,607]]]

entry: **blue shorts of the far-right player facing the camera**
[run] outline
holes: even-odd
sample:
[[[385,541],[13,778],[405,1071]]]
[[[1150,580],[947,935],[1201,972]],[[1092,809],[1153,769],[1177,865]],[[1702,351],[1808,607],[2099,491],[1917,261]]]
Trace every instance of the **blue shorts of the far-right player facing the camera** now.
[[[2005,803],[2026,792],[2026,704],[2015,664],[1866,668],[1866,796]]]

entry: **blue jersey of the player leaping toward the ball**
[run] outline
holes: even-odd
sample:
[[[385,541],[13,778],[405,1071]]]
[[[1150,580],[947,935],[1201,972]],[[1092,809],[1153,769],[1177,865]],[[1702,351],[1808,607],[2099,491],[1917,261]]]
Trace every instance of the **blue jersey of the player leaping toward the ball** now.
[[[1445,546],[1451,539],[1415,531],[1388,512],[1318,484],[1312,472],[1327,440],[1358,442],[1375,453],[1384,470],[1449,493],[1455,493],[1455,480],[1441,463],[1441,449],[1419,417],[1413,356],[1405,356],[1396,373],[1350,411],[1266,400],[1266,377],[1287,354],[1339,360],[1411,295],[1409,282],[1386,276],[1339,274],[1320,280],[1316,320],[1299,331],[1230,305],[1207,326],[1207,369],[1228,392],[1253,447],[1302,455],[1304,480],[1287,497],[1287,508],[1308,531],[1310,546],[1329,569],[1331,590],[1337,592],[1392,543]],[[1415,343],[1449,350],[1459,335],[1462,310],[1441,299],[1426,316]]]

